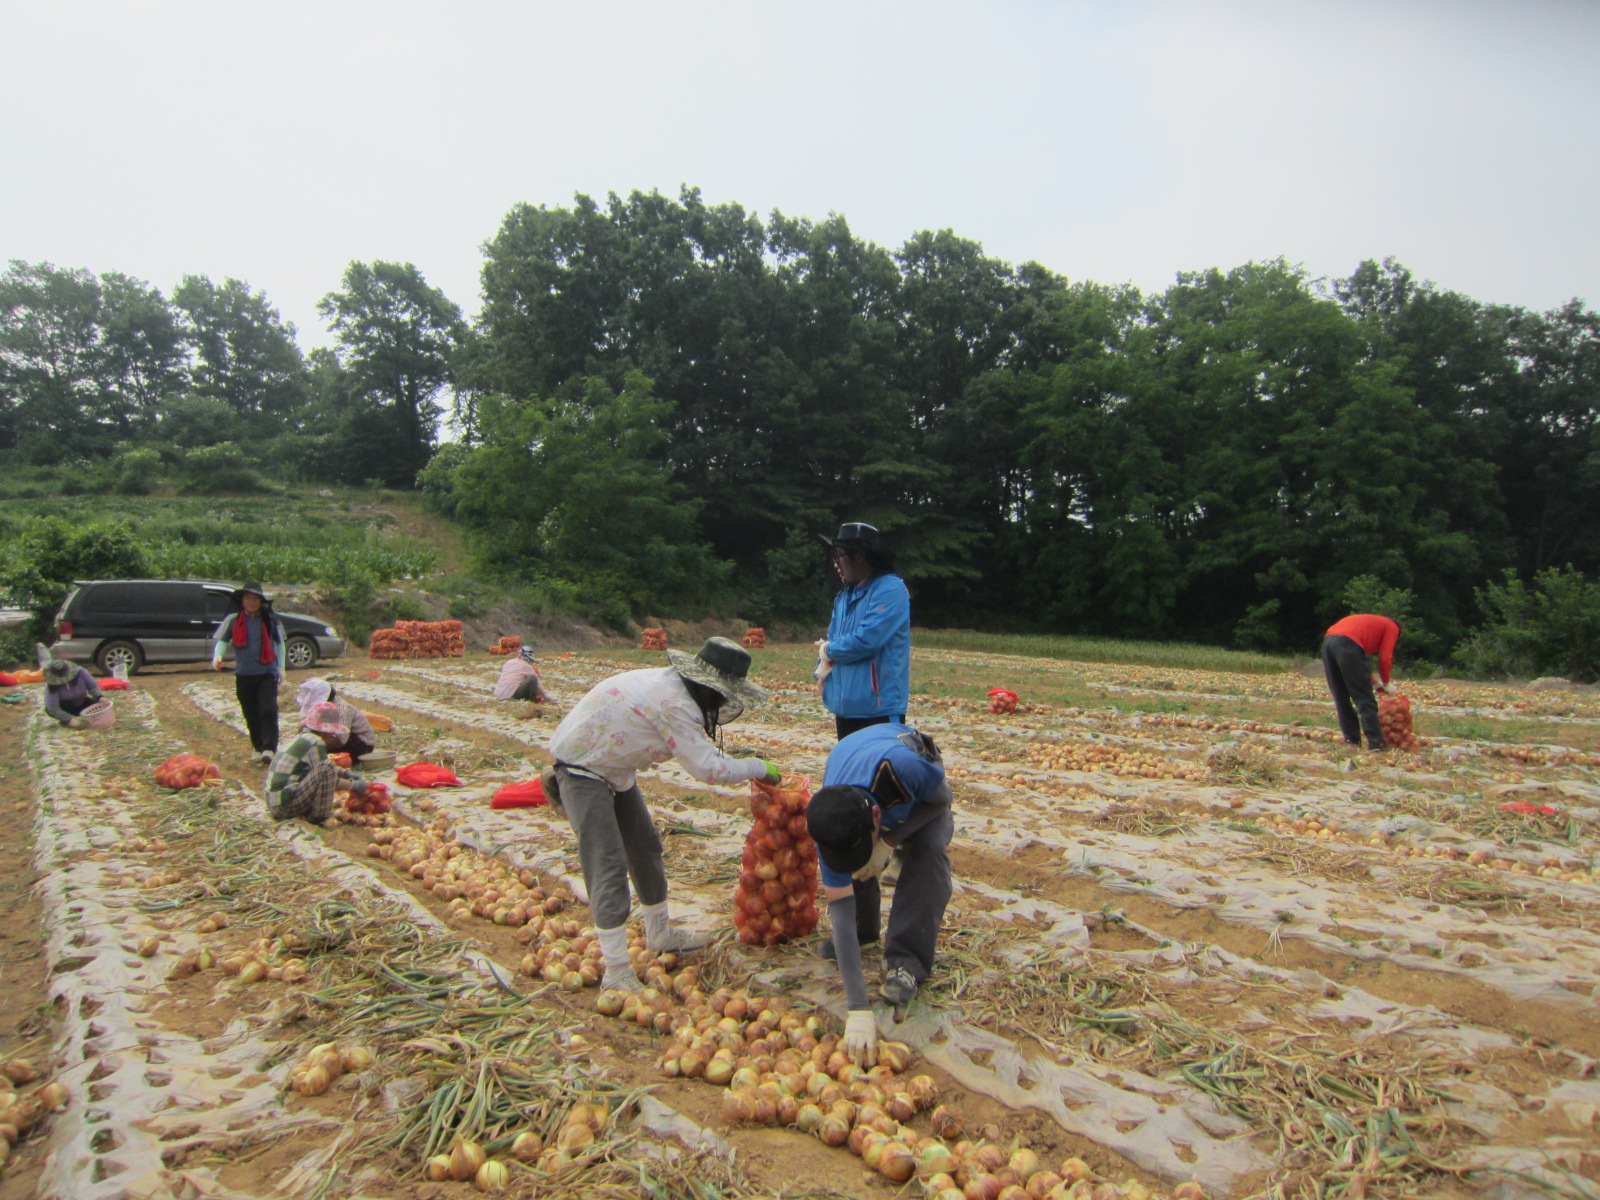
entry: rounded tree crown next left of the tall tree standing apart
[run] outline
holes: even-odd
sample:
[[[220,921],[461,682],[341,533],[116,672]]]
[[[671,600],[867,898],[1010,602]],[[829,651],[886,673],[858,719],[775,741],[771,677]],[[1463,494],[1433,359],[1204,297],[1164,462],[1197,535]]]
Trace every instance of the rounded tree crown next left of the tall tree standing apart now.
[[[194,390],[222,400],[256,434],[275,432],[306,402],[306,360],[294,326],[266,293],[227,278],[184,275],[173,291],[179,328],[194,352]]]

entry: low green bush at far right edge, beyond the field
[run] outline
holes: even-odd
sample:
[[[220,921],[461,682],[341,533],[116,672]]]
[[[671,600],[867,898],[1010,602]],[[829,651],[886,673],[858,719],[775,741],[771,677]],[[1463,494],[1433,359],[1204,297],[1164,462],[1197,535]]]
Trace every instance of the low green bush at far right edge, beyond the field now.
[[[1490,619],[1456,646],[1454,658],[1469,674],[1600,678],[1600,581],[1568,565],[1539,571],[1530,587],[1506,571],[1504,584],[1488,584],[1474,597]]]

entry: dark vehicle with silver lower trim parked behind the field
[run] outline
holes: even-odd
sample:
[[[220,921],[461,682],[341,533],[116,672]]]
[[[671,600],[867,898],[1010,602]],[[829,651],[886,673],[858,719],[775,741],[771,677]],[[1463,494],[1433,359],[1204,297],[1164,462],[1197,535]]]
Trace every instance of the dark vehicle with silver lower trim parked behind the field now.
[[[134,675],[154,662],[210,662],[218,624],[234,610],[235,584],[208,579],[78,579],[56,613],[56,658],[93,662],[101,674]],[[283,622],[283,659],[293,670],[339,658],[344,638],[301,613]],[[224,648],[232,658],[234,648]]]

